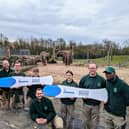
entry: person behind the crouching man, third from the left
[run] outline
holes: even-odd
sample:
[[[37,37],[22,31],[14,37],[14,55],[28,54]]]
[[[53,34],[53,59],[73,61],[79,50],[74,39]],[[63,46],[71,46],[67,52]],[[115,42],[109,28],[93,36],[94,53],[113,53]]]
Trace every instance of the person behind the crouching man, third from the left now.
[[[39,69],[38,68],[34,68],[33,69],[32,77],[40,77]],[[36,96],[35,96],[36,89],[37,88],[43,88],[43,86],[41,84],[38,84],[38,85],[28,86],[27,88],[28,88],[28,92],[27,92],[27,106],[29,107],[32,99],[36,98]]]

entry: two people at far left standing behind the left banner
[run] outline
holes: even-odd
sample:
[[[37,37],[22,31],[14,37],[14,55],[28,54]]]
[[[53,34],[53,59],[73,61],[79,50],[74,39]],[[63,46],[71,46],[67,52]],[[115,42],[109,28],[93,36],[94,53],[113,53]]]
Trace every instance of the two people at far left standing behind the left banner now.
[[[9,76],[25,76],[21,71],[21,62],[17,61],[14,64],[14,69],[10,68],[8,60],[3,60],[3,69],[0,71],[0,78]],[[0,88],[0,96],[3,99],[1,107],[4,109],[23,108],[23,88]],[[16,102],[14,102],[16,101]],[[14,105],[15,103],[15,105]]]

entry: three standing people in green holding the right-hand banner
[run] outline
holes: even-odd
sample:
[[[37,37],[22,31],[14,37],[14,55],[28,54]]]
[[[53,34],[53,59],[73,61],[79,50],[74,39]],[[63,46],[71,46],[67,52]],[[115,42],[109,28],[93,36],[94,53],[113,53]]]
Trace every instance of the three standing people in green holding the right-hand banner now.
[[[83,98],[84,129],[125,129],[126,107],[129,106],[128,84],[118,77],[112,66],[106,67],[103,71],[106,79],[97,73],[95,63],[88,65],[88,71],[89,73],[81,78],[79,87],[85,89],[106,88],[108,100],[105,103]],[[72,77],[72,71],[67,71],[66,80],[62,84],[76,87],[77,83]],[[75,100],[75,98],[61,99],[61,111],[62,114],[65,114],[63,118],[66,122],[66,129],[72,129],[70,124],[73,120]]]

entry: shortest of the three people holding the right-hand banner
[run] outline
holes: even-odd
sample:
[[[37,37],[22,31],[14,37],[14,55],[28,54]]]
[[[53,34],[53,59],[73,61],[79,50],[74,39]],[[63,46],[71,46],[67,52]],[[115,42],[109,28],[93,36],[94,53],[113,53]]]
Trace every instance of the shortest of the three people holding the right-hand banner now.
[[[64,86],[78,87],[78,84],[73,80],[73,72],[68,70],[65,73],[66,80],[62,82]],[[74,103],[76,98],[61,98],[61,114],[64,120],[64,128],[72,129],[74,119]]]

